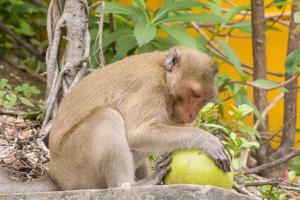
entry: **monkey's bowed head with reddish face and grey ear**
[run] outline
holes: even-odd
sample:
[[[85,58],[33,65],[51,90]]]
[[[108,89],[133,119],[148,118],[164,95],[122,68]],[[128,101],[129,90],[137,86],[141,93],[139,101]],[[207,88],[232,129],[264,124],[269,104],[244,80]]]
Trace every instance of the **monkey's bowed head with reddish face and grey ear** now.
[[[178,123],[191,123],[217,96],[217,68],[210,56],[186,46],[175,47],[164,66],[170,72],[172,116]]]

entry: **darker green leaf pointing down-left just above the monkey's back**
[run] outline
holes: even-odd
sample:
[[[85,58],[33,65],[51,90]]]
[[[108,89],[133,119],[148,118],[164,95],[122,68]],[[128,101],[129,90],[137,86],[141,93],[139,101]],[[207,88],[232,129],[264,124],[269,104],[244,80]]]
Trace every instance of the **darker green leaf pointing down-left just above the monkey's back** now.
[[[116,55],[112,58],[112,62],[119,60],[125,53],[132,49],[136,45],[136,39],[134,36],[127,36],[125,38],[118,39],[119,45],[116,47]]]

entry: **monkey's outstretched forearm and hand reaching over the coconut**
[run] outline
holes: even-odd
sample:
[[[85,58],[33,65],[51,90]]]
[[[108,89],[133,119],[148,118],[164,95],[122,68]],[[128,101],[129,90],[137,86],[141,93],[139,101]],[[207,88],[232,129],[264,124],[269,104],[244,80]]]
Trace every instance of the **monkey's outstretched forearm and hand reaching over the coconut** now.
[[[200,128],[150,124],[129,133],[127,139],[130,149],[145,153],[198,148],[225,172],[231,170],[224,145],[217,137]]]

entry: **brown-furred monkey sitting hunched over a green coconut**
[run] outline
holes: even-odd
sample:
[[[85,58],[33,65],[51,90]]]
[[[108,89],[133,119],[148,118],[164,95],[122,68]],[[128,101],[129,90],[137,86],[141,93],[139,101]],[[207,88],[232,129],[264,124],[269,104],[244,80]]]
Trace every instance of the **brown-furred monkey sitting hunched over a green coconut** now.
[[[230,171],[223,143],[192,127],[216,98],[217,68],[184,45],[124,57],[85,76],[62,100],[49,133],[49,172],[0,193],[157,185],[170,152],[201,149]],[[148,156],[164,153],[151,174]],[[42,182],[42,183],[41,183]]]

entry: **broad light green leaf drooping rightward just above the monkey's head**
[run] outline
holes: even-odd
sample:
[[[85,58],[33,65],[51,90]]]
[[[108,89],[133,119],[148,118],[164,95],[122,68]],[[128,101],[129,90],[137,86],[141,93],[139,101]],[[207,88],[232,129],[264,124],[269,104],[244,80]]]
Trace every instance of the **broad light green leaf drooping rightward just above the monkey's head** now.
[[[180,44],[189,46],[191,48],[196,49],[197,44],[195,39],[186,32],[186,29],[179,24],[174,24],[172,26],[160,25],[161,28],[167,31],[175,40],[177,40]]]

